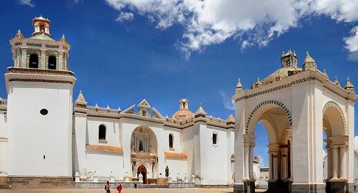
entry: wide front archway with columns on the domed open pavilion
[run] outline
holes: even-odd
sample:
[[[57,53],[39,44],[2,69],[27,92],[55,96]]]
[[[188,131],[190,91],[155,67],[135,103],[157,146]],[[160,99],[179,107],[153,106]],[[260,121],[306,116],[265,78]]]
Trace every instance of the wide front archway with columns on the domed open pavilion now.
[[[288,108],[279,101],[265,101],[260,103],[252,110],[246,122],[244,134],[244,168],[245,186],[247,190],[254,191],[253,173],[253,148],[255,145],[256,124],[261,122],[267,132],[267,147],[269,159],[269,180],[268,191],[275,192],[276,188],[280,191],[288,191],[288,181],[291,177],[291,134],[292,128],[291,113]]]

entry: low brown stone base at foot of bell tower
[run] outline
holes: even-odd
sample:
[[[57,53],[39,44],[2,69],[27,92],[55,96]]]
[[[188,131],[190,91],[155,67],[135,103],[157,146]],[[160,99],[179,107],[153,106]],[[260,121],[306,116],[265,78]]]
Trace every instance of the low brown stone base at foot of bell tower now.
[[[72,177],[60,176],[8,176],[8,184],[12,187],[75,187]]]

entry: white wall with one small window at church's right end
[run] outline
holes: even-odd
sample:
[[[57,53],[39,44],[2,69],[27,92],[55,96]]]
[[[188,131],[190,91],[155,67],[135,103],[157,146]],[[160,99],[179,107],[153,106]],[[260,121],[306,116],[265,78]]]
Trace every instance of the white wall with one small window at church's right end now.
[[[218,134],[217,145],[212,143],[213,132]],[[227,130],[209,125],[200,127],[202,184],[225,185],[231,183],[231,181],[227,181],[227,176],[229,176],[227,169],[230,167],[227,161],[227,148]]]

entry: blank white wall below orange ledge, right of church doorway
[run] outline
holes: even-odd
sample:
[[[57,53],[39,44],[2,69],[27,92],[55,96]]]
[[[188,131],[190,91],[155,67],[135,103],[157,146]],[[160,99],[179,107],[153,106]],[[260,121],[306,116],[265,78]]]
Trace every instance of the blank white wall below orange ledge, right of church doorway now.
[[[187,174],[187,161],[179,159],[165,159],[166,166],[169,167],[169,173],[171,173],[171,179],[176,180],[176,176],[179,174],[180,178],[184,181],[184,176]],[[163,176],[165,172],[162,173]],[[190,177],[188,175],[188,177]]]

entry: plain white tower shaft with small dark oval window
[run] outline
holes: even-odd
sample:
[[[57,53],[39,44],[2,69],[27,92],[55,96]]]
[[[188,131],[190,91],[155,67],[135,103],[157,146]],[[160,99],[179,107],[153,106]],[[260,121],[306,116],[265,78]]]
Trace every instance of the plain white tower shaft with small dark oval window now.
[[[8,84],[9,174],[71,176],[72,86]]]

